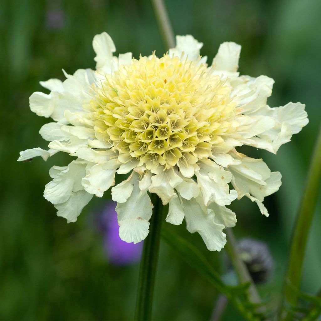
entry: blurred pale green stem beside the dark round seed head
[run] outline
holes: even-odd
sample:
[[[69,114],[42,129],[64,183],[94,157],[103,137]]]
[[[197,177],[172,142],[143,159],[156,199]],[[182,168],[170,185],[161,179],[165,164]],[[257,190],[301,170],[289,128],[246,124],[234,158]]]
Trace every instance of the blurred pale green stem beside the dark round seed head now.
[[[252,303],[260,303],[261,298],[256,290],[256,286],[254,285],[251,275],[248,272],[245,263],[239,257],[237,244],[232,229],[226,229],[225,233],[227,235],[227,242],[224,248],[230,256],[232,265],[234,266],[235,272],[239,277],[239,281],[240,283],[250,283],[250,286],[247,290],[249,301]]]

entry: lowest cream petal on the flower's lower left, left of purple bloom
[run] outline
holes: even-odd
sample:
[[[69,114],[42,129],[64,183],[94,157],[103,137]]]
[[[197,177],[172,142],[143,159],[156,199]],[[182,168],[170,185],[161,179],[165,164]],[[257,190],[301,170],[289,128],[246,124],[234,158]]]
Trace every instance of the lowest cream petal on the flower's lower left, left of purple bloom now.
[[[64,217],[68,223],[77,221],[82,209],[90,202],[92,194],[86,191],[72,192],[65,203],[55,204],[57,216]]]

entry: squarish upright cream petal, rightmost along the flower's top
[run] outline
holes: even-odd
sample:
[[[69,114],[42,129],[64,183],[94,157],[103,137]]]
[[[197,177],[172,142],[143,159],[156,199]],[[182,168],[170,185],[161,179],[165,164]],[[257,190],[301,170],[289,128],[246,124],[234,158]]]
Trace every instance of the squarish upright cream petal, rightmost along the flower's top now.
[[[234,42],[223,42],[213,59],[215,70],[236,72],[239,68],[241,46]]]

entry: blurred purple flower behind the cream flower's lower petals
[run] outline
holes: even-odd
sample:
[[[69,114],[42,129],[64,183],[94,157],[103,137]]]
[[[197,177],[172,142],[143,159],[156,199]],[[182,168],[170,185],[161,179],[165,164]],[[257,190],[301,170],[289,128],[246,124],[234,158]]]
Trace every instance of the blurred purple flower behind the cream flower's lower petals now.
[[[138,244],[126,243],[118,234],[116,203],[109,202],[100,214],[100,229],[103,232],[104,247],[109,261],[113,265],[129,265],[140,260],[143,242]]]

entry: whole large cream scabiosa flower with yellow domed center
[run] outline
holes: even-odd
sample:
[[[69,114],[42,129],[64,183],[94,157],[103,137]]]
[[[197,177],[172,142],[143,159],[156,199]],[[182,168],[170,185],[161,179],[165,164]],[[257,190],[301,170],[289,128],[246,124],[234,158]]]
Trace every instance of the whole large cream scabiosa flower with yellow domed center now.
[[[221,44],[208,66],[199,56],[202,43],[190,35],[176,39],[160,58],[153,53],[134,59],[131,53],[113,56],[109,35],[96,35],[96,71],[64,72],[64,82],[40,82],[49,94],[31,95],[30,109],[55,122],[40,129],[49,150],[26,150],[19,160],[47,160],[60,151],[75,157],[50,169],[53,180],[44,191],[68,222],[93,195],[101,197],[115,184],[116,172],[129,173],[111,190],[121,239],[146,238],[150,192],[169,204],[167,222],[178,225],[185,218],[187,230],[219,251],[226,243],[223,229],[236,223],[226,205],[246,196],[267,216],[263,199],[281,185],[279,172],[236,147],[276,153],[308,123],[307,113],[301,103],[266,105],[273,79],[240,76],[239,45]]]

